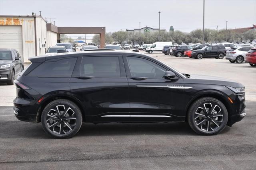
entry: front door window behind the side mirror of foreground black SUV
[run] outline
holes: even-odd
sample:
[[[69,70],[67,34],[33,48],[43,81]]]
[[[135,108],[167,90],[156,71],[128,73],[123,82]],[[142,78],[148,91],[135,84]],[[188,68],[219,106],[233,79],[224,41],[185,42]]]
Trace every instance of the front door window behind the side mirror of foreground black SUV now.
[[[138,57],[127,57],[132,77],[163,78],[166,68]]]

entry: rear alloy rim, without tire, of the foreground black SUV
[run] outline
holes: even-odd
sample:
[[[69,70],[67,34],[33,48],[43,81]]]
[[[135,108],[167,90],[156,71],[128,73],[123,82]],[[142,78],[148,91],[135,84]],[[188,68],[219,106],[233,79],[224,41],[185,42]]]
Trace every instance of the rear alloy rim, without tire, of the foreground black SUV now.
[[[76,113],[68,106],[57,105],[47,113],[46,124],[53,133],[70,133],[76,126]]]

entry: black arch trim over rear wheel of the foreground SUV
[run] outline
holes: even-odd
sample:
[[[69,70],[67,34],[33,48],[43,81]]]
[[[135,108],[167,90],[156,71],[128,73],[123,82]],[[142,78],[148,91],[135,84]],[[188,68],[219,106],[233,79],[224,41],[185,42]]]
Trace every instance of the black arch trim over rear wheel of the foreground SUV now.
[[[41,122],[41,115],[42,115],[42,111],[44,110],[44,107],[46,105],[48,105],[50,102],[57,100],[57,99],[66,99],[66,100],[70,100],[71,102],[74,102],[80,109],[81,113],[82,113],[82,121],[85,121],[85,107],[83,107],[83,105],[81,104],[81,102],[79,102],[78,99],[70,96],[70,95],[52,95],[52,96],[48,96],[47,98],[44,98],[44,100],[42,100],[42,103],[39,105],[38,107],[38,112],[36,114],[36,121],[37,122]]]

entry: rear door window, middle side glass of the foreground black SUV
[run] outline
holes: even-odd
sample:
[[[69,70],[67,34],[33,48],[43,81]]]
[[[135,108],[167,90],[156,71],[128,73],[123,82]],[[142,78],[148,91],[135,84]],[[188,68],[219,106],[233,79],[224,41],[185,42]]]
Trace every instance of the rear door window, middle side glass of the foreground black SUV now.
[[[80,76],[121,77],[118,56],[83,57]]]

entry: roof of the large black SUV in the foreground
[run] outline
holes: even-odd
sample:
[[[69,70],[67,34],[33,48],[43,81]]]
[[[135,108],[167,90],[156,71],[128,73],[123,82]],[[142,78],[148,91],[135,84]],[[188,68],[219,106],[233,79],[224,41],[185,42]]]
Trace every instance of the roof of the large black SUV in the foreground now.
[[[58,53],[58,54],[46,54],[41,56],[30,57],[28,60],[32,63],[42,63],[50,59],[60,59],[68,57],[80,57],[80,56],[93,56],[93,55],[136,55],[140,57],[152,58],[148,55],[132,51],[122,51],[122,50],[88,50],[81,52],[69,52],[69,53]]]

